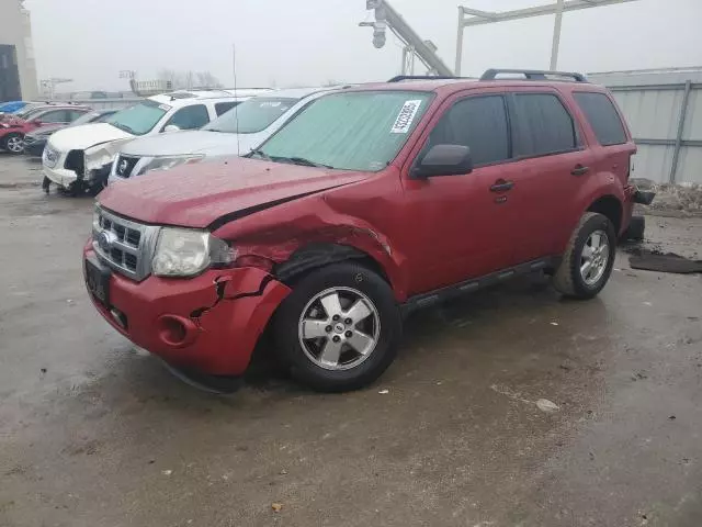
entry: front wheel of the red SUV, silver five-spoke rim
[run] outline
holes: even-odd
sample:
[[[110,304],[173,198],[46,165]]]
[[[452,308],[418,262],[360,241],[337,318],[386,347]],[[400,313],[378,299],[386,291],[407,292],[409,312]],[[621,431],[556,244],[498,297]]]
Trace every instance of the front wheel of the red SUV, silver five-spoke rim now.
[[[358,390],[393,362],[401,317],[390,287],[355,262],[299,280],[274,321],[276,348],[292,373],[321,392]]]

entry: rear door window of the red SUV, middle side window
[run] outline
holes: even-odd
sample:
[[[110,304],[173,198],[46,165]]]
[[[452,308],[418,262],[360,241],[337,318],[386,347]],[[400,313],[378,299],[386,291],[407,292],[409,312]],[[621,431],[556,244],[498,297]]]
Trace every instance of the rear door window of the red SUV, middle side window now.
[[[575,122],[552,93],[514,93],[517,155],[547,156],[578,147]]]

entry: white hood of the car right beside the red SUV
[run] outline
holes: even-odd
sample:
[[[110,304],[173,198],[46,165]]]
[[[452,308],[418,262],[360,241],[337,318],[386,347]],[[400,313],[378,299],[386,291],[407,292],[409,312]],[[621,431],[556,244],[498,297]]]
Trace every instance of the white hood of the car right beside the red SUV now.
[[[204,130],[172,132],[132,141],[122,148],[121,154],[138,157],[183,156],[189,154],[236,156],[238,153],[247,154],[251,150],[249,135],[258,136],[258,134],[239,134],[237,136],[237,134],[207,132]]]

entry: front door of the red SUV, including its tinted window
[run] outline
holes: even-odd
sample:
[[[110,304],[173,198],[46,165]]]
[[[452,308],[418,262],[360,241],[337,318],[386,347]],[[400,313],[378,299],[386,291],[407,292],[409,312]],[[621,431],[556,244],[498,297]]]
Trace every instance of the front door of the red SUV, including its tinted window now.
[[[404,236],[410,294],[503,269],[513,262],[514,222],[510,182],[521,178],[514,162],[507,98],[495,93],[456,97],[430,124],[422,156],[432,145],[471,148],[474,170],[461,176],[411,179],[405,198],[412,221]]]

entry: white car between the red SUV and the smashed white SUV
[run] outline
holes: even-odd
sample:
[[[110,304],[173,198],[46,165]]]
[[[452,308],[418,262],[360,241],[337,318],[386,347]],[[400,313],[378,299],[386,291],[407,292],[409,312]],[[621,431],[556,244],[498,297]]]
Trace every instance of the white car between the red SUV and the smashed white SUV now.
[[[272,91],[242,102],[201,130],[131,141],[115,157],[110,182],[185,162],[248,154],[312,101],[336,89]]]

